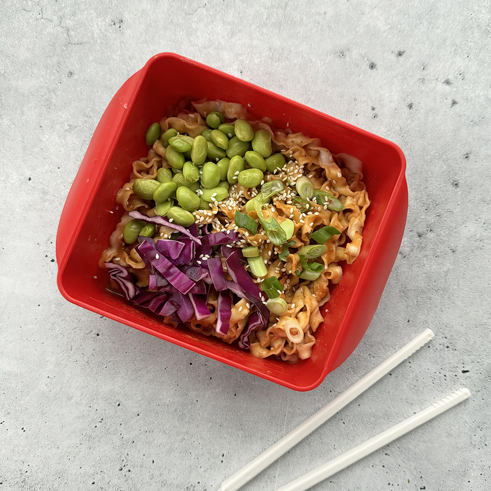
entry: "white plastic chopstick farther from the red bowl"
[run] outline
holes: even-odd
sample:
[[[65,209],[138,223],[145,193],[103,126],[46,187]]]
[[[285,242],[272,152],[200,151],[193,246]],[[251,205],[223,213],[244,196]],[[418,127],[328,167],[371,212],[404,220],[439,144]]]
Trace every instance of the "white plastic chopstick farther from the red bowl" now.
[[[405,435],[419,425],[426,423],[426,421],[459,404],[469,396],[470,392],[468,389],[460,389],[441,401],[432,404],[429,408],[423,409],[408,419],[394,425],[392,428],[389,428],[355,448],[348,450],[348,452],[341,454],[339,457],[330,460],[324,465],[320,465],[307,474],[295,479],[295,481],[285,484],[285,486],[278,488],[276,491],[304,491],[315,484],[324,481],[324,479],[327,479],[329,476],[339,472],[348,465],[366,457],[368,454],[378,450],[387,443],[399,438],[399,436]]]

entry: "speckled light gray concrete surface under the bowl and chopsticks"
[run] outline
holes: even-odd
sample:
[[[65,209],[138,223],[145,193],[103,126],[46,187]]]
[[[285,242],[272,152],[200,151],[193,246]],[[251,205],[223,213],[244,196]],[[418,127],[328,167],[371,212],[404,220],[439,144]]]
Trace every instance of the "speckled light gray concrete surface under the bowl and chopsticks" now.
[[[274,490],[467,386],[472,398],[314,490],[489,490],[490,1],[0,4],[0,491],[216,490],[431,327],[391,376],[244,487]],[[355,353],[297,393],[101,319],[55,284],[90,137],[156,53],[395,141],[409,216]]]

